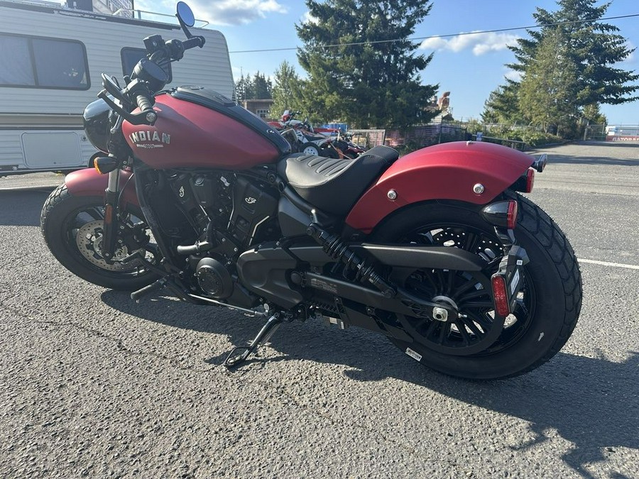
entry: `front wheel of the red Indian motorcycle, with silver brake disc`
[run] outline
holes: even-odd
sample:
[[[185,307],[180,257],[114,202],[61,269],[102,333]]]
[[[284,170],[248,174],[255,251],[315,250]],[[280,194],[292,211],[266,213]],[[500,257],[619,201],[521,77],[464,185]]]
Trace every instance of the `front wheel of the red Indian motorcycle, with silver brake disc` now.
[[[118,260],[138,250],[143,250],[152,263],[157,258],[155,248],[148,244],[150,234],[141,211],[128,205],[120,213],[123,229],[117,238],[114,261],[102,256],[102,197],[75,197],[60,185],[44,204],[40,229],[51,253],[67,270],[95,285],[135,291],[157,280],[157,275],[138,262],[124,264]]]

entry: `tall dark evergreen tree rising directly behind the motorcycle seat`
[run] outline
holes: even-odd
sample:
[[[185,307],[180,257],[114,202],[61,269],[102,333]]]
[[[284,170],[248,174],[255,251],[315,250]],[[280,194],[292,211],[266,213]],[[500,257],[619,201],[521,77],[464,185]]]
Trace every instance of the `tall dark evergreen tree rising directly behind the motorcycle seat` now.
[[[420,84],[432,55],[415,55],[408,38],[427,16],[423,0],[306,0],[317,21],[302,23],[297,54],[308,73],[307,113],[360,128],[405,127],[427,121],[437,86]],[[397,40],[397,41],[385,41]],[[329,46],[339,45],[339,46]]]

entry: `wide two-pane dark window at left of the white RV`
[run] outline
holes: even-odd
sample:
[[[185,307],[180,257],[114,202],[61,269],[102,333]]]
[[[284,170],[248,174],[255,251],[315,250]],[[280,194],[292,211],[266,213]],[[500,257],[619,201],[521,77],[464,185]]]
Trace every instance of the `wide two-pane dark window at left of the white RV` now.
[[[0,87],[89,89],[84,45],[76,40],[0,35]]]

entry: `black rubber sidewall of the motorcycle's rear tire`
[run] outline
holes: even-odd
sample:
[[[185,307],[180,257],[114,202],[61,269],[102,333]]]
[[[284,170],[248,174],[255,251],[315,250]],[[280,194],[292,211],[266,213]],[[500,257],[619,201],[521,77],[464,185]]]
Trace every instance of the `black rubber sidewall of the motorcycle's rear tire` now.
[[[394,216],[373,233],[374,240],[390,241],[391,238],[398,238],[398,235],[413,231],[422,225],[436,223],[468,224],[486,229],[485,221],[479,216],[479,207],[469,204],[430,203]],[[515,238],[530,258],[525,272],[535,290],[532,321],[516,343],[496,353],[476,356],[446,355],[417,343],[391,339],[395,346],[403,351],[406,351],[406,348],[413,349],[422,356],[420,362],[430,368],[472,379],[519,375],[534,368],[537,363],[545,362],[546,356],[556,347],[564,326],[567,306],[562,278],[557,265],[548,255],[547,248],[525,227],[525,222],[518,223]]]

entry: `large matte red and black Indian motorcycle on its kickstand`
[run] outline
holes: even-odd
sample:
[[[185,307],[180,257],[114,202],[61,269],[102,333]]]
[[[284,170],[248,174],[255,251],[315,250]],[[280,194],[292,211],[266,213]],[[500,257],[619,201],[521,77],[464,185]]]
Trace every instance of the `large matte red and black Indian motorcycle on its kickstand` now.
[[[183,2],[177,16],[187,40],[146,38],[125,86],[103,74],[84,110],[104,154],[67,175],[41,216],[65,268],[135,301],[162,292],[265,321],[229,368],[310,319],[383,334],[461,378],[520,375],[559,351],[579,316],[579,266],[519,194],[545,155],[472,141],[403,158],[385,146],[355,160],[290,154],[234,101],[164,89],[167,65],[204,46]]]

